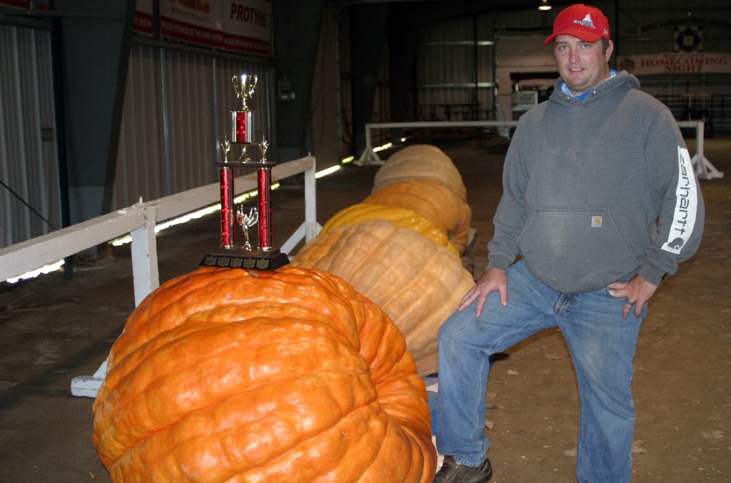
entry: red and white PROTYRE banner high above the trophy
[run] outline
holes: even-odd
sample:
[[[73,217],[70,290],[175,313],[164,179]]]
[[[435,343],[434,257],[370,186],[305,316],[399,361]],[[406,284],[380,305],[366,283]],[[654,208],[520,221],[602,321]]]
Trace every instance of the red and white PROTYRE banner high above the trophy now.
[[[164,37],[238,52],[272,55],[271,17],[271,0],[160,0]]]

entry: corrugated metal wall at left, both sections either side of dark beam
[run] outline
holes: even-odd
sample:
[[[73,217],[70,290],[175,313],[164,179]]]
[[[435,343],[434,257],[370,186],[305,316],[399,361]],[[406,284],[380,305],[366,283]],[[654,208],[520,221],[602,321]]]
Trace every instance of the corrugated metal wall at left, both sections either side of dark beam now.
[[[240,72],[259,76],[250,104],[260,133],[274,132],[269,63],[132,45],[112,209],[217,181]],[[61,225],[53,116],[48,31],[0,26],[0,247]]]

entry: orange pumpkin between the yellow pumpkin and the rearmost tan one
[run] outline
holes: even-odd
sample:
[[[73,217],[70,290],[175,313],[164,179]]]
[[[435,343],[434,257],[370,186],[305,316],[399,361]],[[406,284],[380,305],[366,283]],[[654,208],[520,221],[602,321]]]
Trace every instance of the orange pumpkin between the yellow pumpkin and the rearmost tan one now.
[[[389,184],[368,196],[363,203],[409,209],[447,232],[459,252],[469,241],[472,210],[455,192],[425,179]]]

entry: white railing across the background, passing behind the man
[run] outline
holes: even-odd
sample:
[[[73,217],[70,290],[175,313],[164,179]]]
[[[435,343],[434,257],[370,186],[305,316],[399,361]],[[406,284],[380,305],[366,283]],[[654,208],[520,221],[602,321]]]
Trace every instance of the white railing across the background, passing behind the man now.
[[[393,129],[406,127],[515,127],[518,121],[414,121],[414,122],[373,122],[366,124],[366,149],[355,161],[358,166],[380,165],[383,160],[373,149],[371,130]],[[695,129],[696,154],[692,157],[695,165],[695,172],[700,179],[722,178],[724,173],[717,170],[715,166],[703,154],[703,137],[705,124],[703,121],[678,121],[679,127],[692,127]]]

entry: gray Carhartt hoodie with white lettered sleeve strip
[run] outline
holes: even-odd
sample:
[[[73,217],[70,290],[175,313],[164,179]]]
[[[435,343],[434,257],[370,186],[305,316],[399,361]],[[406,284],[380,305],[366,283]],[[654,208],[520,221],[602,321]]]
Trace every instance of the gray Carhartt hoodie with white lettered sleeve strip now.
[[[634,274],[659,285],[697,250],[705,216],[678,124],[626,72],[583,101],[561,83],[515,130],[488,268],[521,255],[563,293]]]

